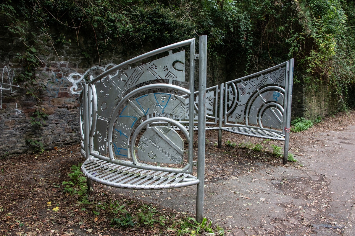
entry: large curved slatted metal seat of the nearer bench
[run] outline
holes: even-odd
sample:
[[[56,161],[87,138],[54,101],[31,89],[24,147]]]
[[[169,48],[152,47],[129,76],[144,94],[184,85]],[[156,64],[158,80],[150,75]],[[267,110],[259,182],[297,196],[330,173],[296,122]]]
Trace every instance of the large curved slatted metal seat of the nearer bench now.
[[[186,173],[132,168],[95,157],[87,159],[81,170],[97,183],[124,189],[172,189],[200,183],[195,176]]]

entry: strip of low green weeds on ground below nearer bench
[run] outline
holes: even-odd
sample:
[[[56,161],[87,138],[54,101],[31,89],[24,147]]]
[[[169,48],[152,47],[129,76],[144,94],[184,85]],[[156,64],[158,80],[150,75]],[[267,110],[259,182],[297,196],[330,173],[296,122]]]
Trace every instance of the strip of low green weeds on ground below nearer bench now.
[[[138,201],[134,202],[127,199],[106,202],[97,200],[89,200],[87,195],[86,177],[80,169],[81,165],[73,165],[69,181],[64,181],[64,192],[70,195],[78,196],[80,204],[86,205],[82,211],[92,209],[94,217],[101,215],[108,219],[112,227],[145,227],[155,229],[159,226],[159,232],[166,234],[166,232],[174,233],[174,235],[200,235],[203,232],[211,233],[213,235],[224,235],[224,229],[219,225],[212,227],[212,221],[203,218],[201,224],[189,217],[185,212],[181,216],[164,214],[159,211],[152,204],[141,204]],[[1,209],[1,208],[0,208]]]

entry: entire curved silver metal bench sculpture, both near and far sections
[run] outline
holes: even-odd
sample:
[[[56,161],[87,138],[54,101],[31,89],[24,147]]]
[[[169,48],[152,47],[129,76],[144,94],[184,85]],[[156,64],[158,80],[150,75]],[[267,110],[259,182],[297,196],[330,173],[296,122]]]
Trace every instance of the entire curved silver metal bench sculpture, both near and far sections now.
[[[80,127],[86,158],[82,171],[88,179],[126,189],[197,185],[196,220],[202,222],[206,130],[219,129],[219,147],[223,130],[282,140],[287,162],[293,59],[206,89],[206,45],[204,35],[199,54],[195,54],[195,39],[153,50],[84,86]],[[189,46],[188,61],[181,49],[184,46]],[[169,54],[131,68],[161,53]],[[199,91],[194,91],[196,59]],[[185,82],[186,69],[189,89],[179,86]],[[198,130],[197,162],[194,130]],[[197,176],[192,174],[193,166],[197,166]]]

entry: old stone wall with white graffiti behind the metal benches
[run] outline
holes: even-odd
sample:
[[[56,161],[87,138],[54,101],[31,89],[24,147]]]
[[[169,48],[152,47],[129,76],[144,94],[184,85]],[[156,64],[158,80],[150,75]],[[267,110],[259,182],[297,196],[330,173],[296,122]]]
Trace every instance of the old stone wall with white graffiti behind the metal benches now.
[[[38,43],[43,45],[39,57],[40,67],[35,72],[39,77],[41,99],[37,104],[33,97],[26,94],[24,82],[14,82],[23,68],[14,53],[14,48],[20,45],[18,41],[19,39],[12,36],[0,34],[0,157],[34,150],[29,145],[31,139],[43,143],[45,149],[77,143],[80,136],[78,96],[85,80],[92,79],[129,56],[117,56],[110,52],[101,56],[105,66],[98,66],[94,65],[98,64],[95,55],[91,59],[84,57],[81,48],[76,45],[56,45],[54,51],[49,42],[39,40]],[[85,44],[82,38],[78,41],[91,47],[90,42]],[[221,68],[220,71],[209,71],[208,77],[215,78],[212,74],[218,73],[218,83],[226,80],[225,68]],[[210,83],[211,81],[212,79]],[[293,117],[315,119],[317,116],[333,113],[337,108],[336,101],[329,99],[326,87],[320,87],[317,92],[294,85],[293,94]],[[31,116],[36,109],[41,109],[48,115],[43,126],[31,124]]]

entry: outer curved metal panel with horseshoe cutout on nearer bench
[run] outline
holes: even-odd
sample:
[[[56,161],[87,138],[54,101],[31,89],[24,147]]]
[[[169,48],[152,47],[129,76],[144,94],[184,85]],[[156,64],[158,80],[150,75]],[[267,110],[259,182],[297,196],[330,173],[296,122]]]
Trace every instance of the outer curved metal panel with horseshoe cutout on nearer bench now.
[[[111,112],[131,88],[151,83],[153,80],[185,81],[185,51],[172,53],[157,60],[120,72],[114,77],[107,77],[95,84],[98,111],[94,148],[107,154],[107,125]],[[159,107],[157,112],[161,112]]]

